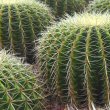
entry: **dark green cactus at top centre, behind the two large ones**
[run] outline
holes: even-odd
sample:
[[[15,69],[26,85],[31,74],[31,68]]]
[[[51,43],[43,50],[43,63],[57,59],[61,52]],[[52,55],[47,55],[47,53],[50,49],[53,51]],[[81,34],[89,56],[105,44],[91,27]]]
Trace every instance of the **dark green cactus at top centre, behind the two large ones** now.
[[[73,15],[75,12],[81,12],[87,5],[86,0],[39,0],[47,3],[56,17],[62,17],[68,13]]]

